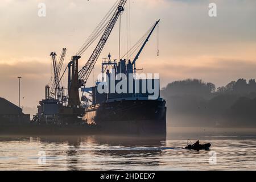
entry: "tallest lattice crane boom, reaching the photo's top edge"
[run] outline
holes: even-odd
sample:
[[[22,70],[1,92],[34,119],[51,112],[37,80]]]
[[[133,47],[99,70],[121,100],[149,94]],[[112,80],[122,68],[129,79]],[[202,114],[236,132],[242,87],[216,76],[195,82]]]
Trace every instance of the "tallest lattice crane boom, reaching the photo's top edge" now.
[[[86,81],[88,80],[88,78],[90,76],[90,73],[92,73],[93,67],[96,64],[96,61],[97,61],[98,57],[100,56],[100,53],[101,53],[102,49],[104,48],[104,46],[109,38],[109,35],[111,34],[111,32],[114,28],[114,25],[117,22],[119,15],[124,10],[126,1],[127,0],[121,0],[119,2],[119,5],[118,5],[117,9],[115,10],[114,15],[110,19],[109,24],[104,31],[104,34],[101,36],[100,42],[98,42],[96,48],[94,49],[92,55],[90,56],[89,60],[85,64],[85,66],[82,67],[82,69],[79,71],[79,82],[81,84],[80,86],[84,86],[86,84]],[[78,56],[80,56],[80,55],[78,55]]]

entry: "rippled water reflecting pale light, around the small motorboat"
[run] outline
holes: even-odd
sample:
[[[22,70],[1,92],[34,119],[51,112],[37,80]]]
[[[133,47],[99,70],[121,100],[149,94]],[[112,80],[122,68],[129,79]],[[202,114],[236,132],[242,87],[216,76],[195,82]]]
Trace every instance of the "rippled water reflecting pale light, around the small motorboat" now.
[[[213,144],[211,150],[198,152],[182,148],[187,140],[0,137],[0,170],[255,170],[255,141],[207,140]],[[39,160],[44,158],[42,151],[46,154],[46,163]],[[209,163],[209,152],[213,151],[216,164]]]

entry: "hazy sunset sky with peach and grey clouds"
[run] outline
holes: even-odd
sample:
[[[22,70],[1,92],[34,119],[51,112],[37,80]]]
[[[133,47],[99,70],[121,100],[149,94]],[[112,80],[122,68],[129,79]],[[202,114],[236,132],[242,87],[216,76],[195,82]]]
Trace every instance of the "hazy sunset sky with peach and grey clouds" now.
[[[51,57],[67,48],[67,65],[116,0],[2,0],[0,3],[0,97],[18,104],[18,76],[22,107],[36,107],[51,77]],[[128,0],[131,3],[131,44],[160,19],[157,32],[144,48],[137,69],[159,73],[160,86],[186,78],[199,78],[223,86],[238,78],[256,78],[255,0]],[[208,15],[216,3],[217,16]],[[39,3],[46,17],[38,16]],[[121,55],[127,51],[126,11],[121,15]],[[102,57],[118,59],[119,23],[116,24],[94,69],[100,73]],[[80,59],[86,63],[95,43]],[[92,86],[93,75],[88,86]],[[66,79],[63,83],[66,84]],[[65,85],[64,85],[65,86]]]

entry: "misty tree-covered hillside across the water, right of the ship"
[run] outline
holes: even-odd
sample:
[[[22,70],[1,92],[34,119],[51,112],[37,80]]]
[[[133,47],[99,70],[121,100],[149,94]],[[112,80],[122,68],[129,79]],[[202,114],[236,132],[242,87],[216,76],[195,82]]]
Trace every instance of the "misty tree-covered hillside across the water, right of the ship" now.
[[[240,78],[216,88],[198,79],[161,90],[172,126],[256,127],[256,82]]]

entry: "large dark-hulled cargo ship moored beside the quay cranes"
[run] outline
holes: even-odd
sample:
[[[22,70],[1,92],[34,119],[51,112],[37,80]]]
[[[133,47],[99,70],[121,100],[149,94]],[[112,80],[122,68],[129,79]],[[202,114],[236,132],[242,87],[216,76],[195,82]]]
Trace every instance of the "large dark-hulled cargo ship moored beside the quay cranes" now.
[[[159,95],[159,79],[137,79],[131,76],[129,80],[128,75],[133,74],[131,71],[134,70],[130,60],[128,64],[126,60],[115,64],[109,55],[109,60],[102,63],[102,70],[106,65],[114,65],[112,73],[126,75],[121,80],[125,90],[122,90],[123,93],[111,93],[111,82],[116,88],[121,81],[117,79],[118,76],[111,76],[106,69],[107,82],[98,82],[96,86],[83,90],[92,97],[92,105],[85,107],[85,121],[100,126],[107,133],[166,135],[166,101]],[[102,85],[108,88],[108,92],[98,92]],[[148,92],[149,87],[154,93]]]

